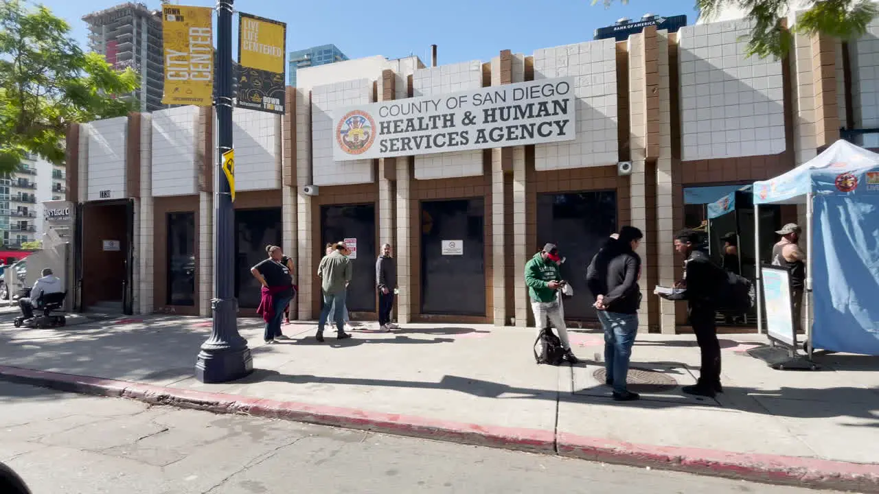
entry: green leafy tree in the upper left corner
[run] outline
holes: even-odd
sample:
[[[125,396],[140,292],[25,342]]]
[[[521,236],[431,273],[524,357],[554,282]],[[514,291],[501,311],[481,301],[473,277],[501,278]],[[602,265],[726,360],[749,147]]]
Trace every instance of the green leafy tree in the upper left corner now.
[[[63,163],[69,123],[127,114],[137,87],[132,69],[85,53],[47,8],[0,1],[0,172],[15,170],[25,153]]]

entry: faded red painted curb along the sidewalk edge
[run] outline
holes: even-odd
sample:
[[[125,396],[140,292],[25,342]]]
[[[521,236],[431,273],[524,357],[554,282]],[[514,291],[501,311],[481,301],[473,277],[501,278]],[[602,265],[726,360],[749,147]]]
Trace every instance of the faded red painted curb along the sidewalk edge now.
[[[371,412],[324,405],[282,402],[248,396],[174,389],[139,382],[61,374],[21,367],[0,366],[0,380],[99,396],[136,399],[214,413],[241,413],[318,425],[504,447],[544,454],[560,454],[589,461],[605,461],[672,469],[700,475],[725,476],[763,483],[787,483],[821,489],[858,490],[879,494],[879,464],[828,461],[798,456],[745,454],[691,447],[662,447],[587,438],[566,432],[476,425]]]

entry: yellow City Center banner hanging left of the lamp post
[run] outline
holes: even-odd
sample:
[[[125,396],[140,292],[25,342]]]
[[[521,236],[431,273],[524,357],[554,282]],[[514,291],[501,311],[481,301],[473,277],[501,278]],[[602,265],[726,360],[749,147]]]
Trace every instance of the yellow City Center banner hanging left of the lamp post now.
[[[214,101],[214,9],[164,4],[164,105]]]

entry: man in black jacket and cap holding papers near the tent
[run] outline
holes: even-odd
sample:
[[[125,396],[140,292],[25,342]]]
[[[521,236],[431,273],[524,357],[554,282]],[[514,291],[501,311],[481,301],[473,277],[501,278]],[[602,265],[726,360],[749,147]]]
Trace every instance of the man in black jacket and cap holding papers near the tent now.
[[[675,287],[684,288],[678,294],[661,294],[667,300],[686,300],[690,309],[690,323],[696,333],[701,352],[701,371],[695,386],[686,386],[688,395],[714,397],[723,392],[720,383],[720,343],[717,341],[715,312],[716,294],[725,273],[711,262],[708,254],[697,250],[699,234],[692,229],[680,231],[674,237],[674,249],[685,256],[684,280]]]

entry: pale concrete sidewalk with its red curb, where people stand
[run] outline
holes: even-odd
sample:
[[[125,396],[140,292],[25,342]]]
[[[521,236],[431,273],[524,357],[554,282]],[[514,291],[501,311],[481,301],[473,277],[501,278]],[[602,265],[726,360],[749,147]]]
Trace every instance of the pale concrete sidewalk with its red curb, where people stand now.
[[[534,365],[534,331],[408,324],[317,344],[313,323],[264,345],[239,320],[256,371],[205,385],[193,364],[210,322],[149,316],[57,330],[0,323],[0,374],[61,389],[215,411],[368,428],[752,480],[879,492],[879,359],[819,355],[824,370],[775,371],[723,336],[725,393],[698,400],[692,336],[639,335],[630,381],[643,399],[603,386],[599,334],[571,331],[578,367]],[[374,327],[369,326],[369,327]],[[33,369],[30,372],[22,369]],[[47,374],[62,373],[62,374]],[[81,377],[81,376],[89,376]]]

